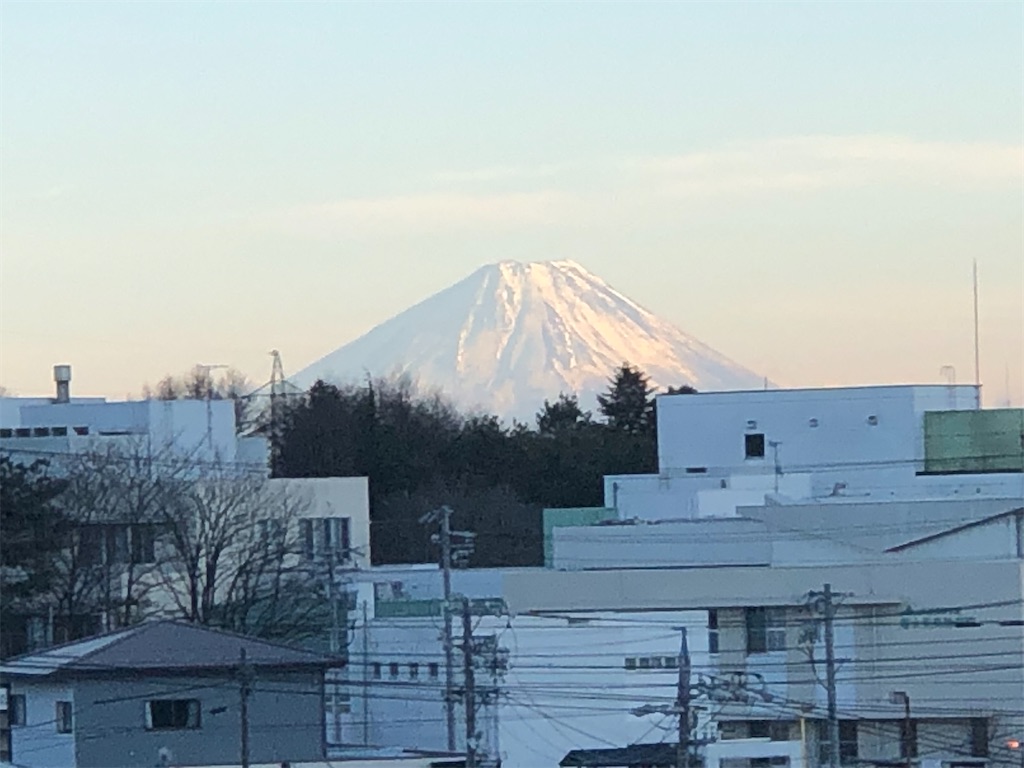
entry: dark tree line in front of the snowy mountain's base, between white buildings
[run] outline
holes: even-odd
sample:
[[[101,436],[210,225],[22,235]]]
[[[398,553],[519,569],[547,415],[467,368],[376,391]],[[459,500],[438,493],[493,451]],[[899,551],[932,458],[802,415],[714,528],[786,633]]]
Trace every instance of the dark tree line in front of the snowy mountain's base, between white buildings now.
[[[272,470],[369,477],[375,564],[435,559],[419,519],[447,504],[453,524],[476,534],[470,565],[540,565],[543,508],[601,506],[604,475],[657,471],[654,394],[646,374],[624,364],[598,396],[598,416],[563,393],[534,424],[505,424],[408,379],[318,381],[282,409]]]

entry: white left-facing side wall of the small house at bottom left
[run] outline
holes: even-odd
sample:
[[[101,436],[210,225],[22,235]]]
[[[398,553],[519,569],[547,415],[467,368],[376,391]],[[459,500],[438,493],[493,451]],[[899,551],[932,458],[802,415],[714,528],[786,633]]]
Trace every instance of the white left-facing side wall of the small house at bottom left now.
[[[10,730],[12,762],[27,768],[69,768],[75,765],[73,733],[57,733],[56,702],[72,701],[72,688],[47,683],[11,684],[11,694],[24,693],[26,724]]]

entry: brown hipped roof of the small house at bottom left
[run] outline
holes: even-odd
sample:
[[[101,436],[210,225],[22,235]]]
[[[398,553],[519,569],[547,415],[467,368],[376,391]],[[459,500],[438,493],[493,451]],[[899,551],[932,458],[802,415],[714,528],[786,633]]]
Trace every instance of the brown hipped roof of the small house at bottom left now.
[[[97,673],[213,670],[237,667],[242,650],[250,667],[327,668],[319,653],[185,622],[147,622],[100,637],[8,659],[6,675],[83,676]]]

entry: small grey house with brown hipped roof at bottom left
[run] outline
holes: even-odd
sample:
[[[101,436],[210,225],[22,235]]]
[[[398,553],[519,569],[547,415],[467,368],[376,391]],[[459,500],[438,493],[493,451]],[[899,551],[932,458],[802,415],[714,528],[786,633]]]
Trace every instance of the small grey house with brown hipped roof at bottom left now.
[[[10,760],[137,768],[326,759],[327,656],[154,622],[5,662]]]

